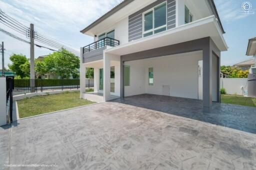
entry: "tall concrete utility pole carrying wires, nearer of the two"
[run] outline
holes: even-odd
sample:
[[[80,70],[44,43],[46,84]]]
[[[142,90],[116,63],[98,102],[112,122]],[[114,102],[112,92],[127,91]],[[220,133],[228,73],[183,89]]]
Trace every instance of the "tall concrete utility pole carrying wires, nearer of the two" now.
[[[30,87],[31,92],[34,92],[35,76],[34,76],[34,24],[30,23]]]

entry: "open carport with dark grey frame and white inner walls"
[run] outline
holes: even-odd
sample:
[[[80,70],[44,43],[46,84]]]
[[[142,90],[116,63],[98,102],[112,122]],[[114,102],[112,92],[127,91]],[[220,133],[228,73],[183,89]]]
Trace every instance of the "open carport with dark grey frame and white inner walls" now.
[[[121,55],[121,97],[150,93],[202,99],[203,110],[209,112],[212,101],[220,101],[219,57],[220,51],[210,37]],[[203,65],[201,88],[199,60]],[[149,85],[149,68],[155,70],[152,85]],[[130,70],[129,84],[125,82],[124,69]],[[143,75],[147,75],[145,80],[141,80]]]

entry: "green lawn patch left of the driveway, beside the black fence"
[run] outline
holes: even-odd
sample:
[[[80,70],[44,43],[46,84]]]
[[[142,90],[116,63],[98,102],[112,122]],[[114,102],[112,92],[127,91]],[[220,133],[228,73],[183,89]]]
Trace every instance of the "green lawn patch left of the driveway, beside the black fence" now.
[[[94,102],[79,98],[79,91],[38,95],[17,101],[20,118],[91,103]]]

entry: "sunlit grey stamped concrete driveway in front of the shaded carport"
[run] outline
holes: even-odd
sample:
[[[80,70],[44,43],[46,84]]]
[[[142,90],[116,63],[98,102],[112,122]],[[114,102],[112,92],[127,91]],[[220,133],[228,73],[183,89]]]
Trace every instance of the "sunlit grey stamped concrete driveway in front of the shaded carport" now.
[[[256,169],[255,141],[254,133],[115,100],[0,127],[0,169]]]

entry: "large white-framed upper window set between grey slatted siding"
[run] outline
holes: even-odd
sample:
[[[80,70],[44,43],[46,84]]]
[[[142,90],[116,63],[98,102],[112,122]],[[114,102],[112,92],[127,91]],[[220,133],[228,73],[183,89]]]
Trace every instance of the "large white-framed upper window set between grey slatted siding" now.
[[[143,13],[143,36],[166,30],[166,2]]]

